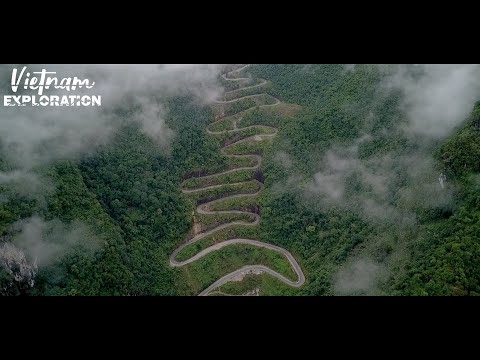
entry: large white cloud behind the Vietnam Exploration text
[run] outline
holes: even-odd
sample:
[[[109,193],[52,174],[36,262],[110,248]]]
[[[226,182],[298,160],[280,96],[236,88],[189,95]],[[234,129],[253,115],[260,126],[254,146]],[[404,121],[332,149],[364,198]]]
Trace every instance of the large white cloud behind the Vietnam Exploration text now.
[[[9,90],[11,70],[3,65],[1,88]],[[58,78],[77,76],[95,81],[92,89],[75,94],[101,95],[101,107],[0,107],[0,149],[15,169],[30,169],[58,159],[74,159],[106,144],[115,130],[128,121],[138,122],[145,134],[163,148],[173,141],[165,123],[167,96],[193,94],[208,103],[221,90],[216,84],[217,65],[29,65],[29,71],[56,71]],[[25,90],[22,90],[25,91]],[[61,90],[45,94],[62,95]],[[64,94],[69,94],[64,92]],[[33,95],[30,94],[29,95]],[[131,115],[113,110],[137,107]],[[128,109],[127,109],[128,110]],[[3,174],[5,176],[11,176]]]

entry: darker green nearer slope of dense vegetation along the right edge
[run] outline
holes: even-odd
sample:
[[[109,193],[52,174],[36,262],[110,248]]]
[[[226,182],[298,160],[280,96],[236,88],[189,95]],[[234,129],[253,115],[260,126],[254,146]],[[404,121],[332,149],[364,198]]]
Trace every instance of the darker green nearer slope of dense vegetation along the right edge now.
[[[480,103],[438,157],[460,187],[460,205],[451,217],[423,226],[396,293],[480,295]]]

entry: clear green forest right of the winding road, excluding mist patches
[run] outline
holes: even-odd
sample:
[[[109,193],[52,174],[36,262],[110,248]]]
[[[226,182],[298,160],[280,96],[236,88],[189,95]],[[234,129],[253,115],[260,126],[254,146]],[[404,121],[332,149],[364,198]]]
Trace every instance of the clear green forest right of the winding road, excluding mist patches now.
[[[377,93],[385,74],[375,66],[357,65],[355,71],[345,72],[341,65],[312,65],[307,71],[304,65],[259,65],[251,72],[272,82],[273,96],[302,106],[295,121],[279,124],[281,139],[276,146],[288,151],[292,166],[282,169],[267,161],[266,184],[268,179],[281,182],[289,173],[308,178],[318,170],[322,153],[333,144],[348,146],[368,133],[370,138],[358,148],[361,161],[384,154],[399,159],[431,156],[438,171],[433,176],[444,171],[454,189],[448,203],[431,205],[421,196],[402,202],[405,199],[398,196],[399,190],[412,189],[417,196],[417,185],[405,175],[408,169],[394,162],[390,171],[397,176],[392,177],[392,190],[384,200],[415,215],[417,222],[408,226],[366,220],[358,216],[355,207],[318,210],[293,189],[266,193],[262,202],[264,236],[295,249],[303,259],[310,280],[301,293],[334,294],[336,269],[362,256],[385,268],[386,276],[379,279],[376,289],[353,289],[353,294],[478,293],[480,102],[450,138],[425,144],[399,131],[399,124],[405,121],[397,106],[402,94]],[[374,116],[368,116],[372,113]],[[264,119],[267,124],[275,122]],[[352,180],[347,182],[346,192],[368,191]]]

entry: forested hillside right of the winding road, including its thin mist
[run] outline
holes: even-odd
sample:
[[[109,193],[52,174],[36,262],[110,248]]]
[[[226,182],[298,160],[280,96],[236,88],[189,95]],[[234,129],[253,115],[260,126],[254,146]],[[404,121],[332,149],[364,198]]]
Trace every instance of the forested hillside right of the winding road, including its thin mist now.
[[[265,171],[271,191],[262,203],[264,238],[303,258],[310,279],[303,294],[478,293],[480,103],[450,138],[422,139],[402,131],[401,92],[381,87],[392,70],[292,64],[250,69],[271,81],[273,96],[303,107],[294,121],[279,126]],[[353,168],[343,177],[329,178],[338,175],[331,166],[322,173],[331,165],[325,152],[332,149]],[[317,172],[321,182],[343,183],[341,201],[315,191],[305,196],[301,189]],[[442,173],[445,189],[437,181]],[[381,193],[372,188],[375,176],[384,181]]]

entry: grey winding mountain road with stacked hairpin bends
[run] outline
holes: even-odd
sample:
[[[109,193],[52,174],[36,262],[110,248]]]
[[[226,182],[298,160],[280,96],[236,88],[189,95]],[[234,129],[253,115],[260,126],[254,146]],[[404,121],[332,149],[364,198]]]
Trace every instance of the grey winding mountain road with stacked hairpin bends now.
[[[249,65],[244,65],[239,69],[229,71],[229,72],[223,74],[222,77],[223,77],[223,79],[225,79],[227,81],[251,80],[250,78],[234,77],[234,74],[240,74],[240,72],[243,71],[244,69],[246,69],[248,66]],[[252,86],[242,87],[242,88],[232,90],[232,91],[228,91],[228,92],[225,93],[225,95],[226,94],[236,94],[236,93],[242,92],[243,90],[246,90],[246,89],[261,87],[261,86],[263,86],[267,83],[267,81],[264,80],[264,79],[258,79],[258,80],[261,80],[261,83],[256,84],[256,85],[252,85]],[[238,102],[238,101],[242,101],[242,100],[245,100],[245,99],[248,99],[248,98],[254,98],[254,97],[271,97],[271,96],[267,95],[266,93],[261,93],[261,94],[247,95],[247,96],[239,97],[239,98],[228,100],[228,101],[217,100],[216,103],[217,104],[228,104],[228,103]],[[259,105],[259,107],[271,107],[271,106],[276,106],[276,105],[280,104],[280,100],[278,100],[276,98],[274,98],[274,99],[275,99],[275,103]],[[247,110],[250,110],[250,109],[251,108],[249,108]],[[247,110],[243,110],[240,113],[244,113]],[[238,113],[235,114],[235,115],[238,115]],[[213,122],[209,127],[215,125],[216,123],[218,123],[220,121],[225,121],[229,117],[232,117],[232,116],[235,116],[235,115],[230,115],[228,117],[222,117],[222,118],[218,119],[217,121]],[[253,165],[253,166],[239,167],[239,168],[235,168],[235,169],[231,169],[231,170],[226,170],[226,171],[219,172],[219,173],[216,173],[216,174],[213,174],[213,175],[196,177],[197,179],[218,177],[218,176],[222,176],[222,175],[225,175],[225,174],[229,174],[229,173],[233,173],[233,172],[237,172],[237,171],[242,171],[242,170],[255,170],[255,169],[258,169],[260,167],[260,165],[262,163],[262,157],[259,156],[259,155],[255,155],[255,154],[233,155],[233,154],[225,153],[225,150],[227,148],[229,148],[231,146],[234,146],[234,145],[237,145],[241,142],[246,142],[246,141],[251,141],[251,140],[257,140],[258,141],[258,140],[263,140],[264,138],[274,137],[275,135],[277,135],[278,130],[274,127],[269,127],[269,126],[264,126],[264,125],[251,125],[251,126],[247,126],[247,127],[244,127],[244,128],[237,128],[237,121],[241,121],[241,117],[239,119],[232,120],[232,123],[233,123],[233,129],[232,130],[212,131],[209,128],[207,128],[207,133],[211,134],[211,135],[220,135],[220,134],[225,134],[225,133],[242,132],[242,131],[245,131],[247,129],[252,129],[252,128],[271,130],[272,133],[270,133],[270,134],[257,134],[257,135],[249,136],[249,137],[246,137],[244,139],[235,141],[235,142],[233,142],[233,143],[231,143],[227,146],[224,146],[221,149],[222,154],[227,156],[227,157],[231,157],[231,158],[252,158],[256,161],[256,164]],[[219,187],[223,187],[225,185],[241,185],[241,184],[245,184],[245,183],[250,183],[251,181],[252,180],[238,182],[238,183],[225,183],[225,184],[220,184],[220,185],[203,186],[203,187],[198,187],[196,189],[184,189],[184,188],[182,188],[182,192],[186,193],[186,194],[197,193],[197,192],[201,192],[201,191],[205,191],[205,190],[209,190],[209,189],[216,189],[216,188],[219,188]],[[228,228],[228,227],[231,227],[231,226],[239,226],[239,225],[240,226],[256,226],[256,225],[258,225],[259,222],[260,222],[260,215],[258,215],[256,213],[253,213],[253,212],[240,211],[240,210],[211,211],[211,210],[206,210],[206,209],[211,204],[214,204],[214,203],[219,202],[219,201],[225,201],[227,199],[255,197],[263,189],[263,184],[259,183],[259,185],[260,185],[260,189],[255,193],[235,194],[235,195],[230,195],[230,196],[224,196],[224,197],[221,197],[220,199],[212,200],[212,201],[203,203],[201,205],[198,205],[197,208],[196,208],[196,212],[198,214],[205,214],[205,215],[214,215],[214,214],[249,214],[249,215],[251,215],[251,214],[253,214],[255,220],[253,222],[231,221],[229,223],[219,225],[219,226],[217,226],[217,227],[215,227],[211,230],[208,230],[208,231],[202,232],[200,234],[197,234],[196,236],[194,236],[193,238],[189,239],[188,241],[183,243],[181,246],[179,246],[171,254],[170,265],[172,267],[185,266],[185,265],[188,265],[188,264],[190,264],[194,261],[197,261],[198,259],[206,256],[207,254],[211,253],[212,251],[217,251],[217,250],[220,250],[220,249],[222,249],[226,246],[230,246],[230,245],[234,245],[234,244],[245,244],[245,245],[256,246],[256,247],[260,247],[260,248],[266,248],[266,249],[275,251],[275,252],[283,255],[288,260],[288,262],[292,266],[292,269],[296,273],[297,280],[292,281],[292,280],[286,278],[285,276],[279,274],[278,272],[276,272],[276,271],[274,271],[274,270],[272,270],[269,267],[264,266],[264,265],[260,265],[260,264],[259,265],[247,265],[247,266],[244,266],[244,267],[242,267],[238,270],[235,270],[235,271],[221,277],[220,279],[215,281],[213,284],[211,284],[209,287],[207,287],[205,290],[203,290],[199,294],[199,296],[209,295],[209,293],[212,292],[212,290],[215,290],[215,289],[219,288],[220,286],[224,285],[225,283],[227,283],[229,281],[234,281],[235,279],[243,279],[243,277],[245,275],[252,274],[252,273],[253,274],[268,273],[268,274],[274,276],[275,278],[279,279],[283,283],[285,283],[289,286],[292,286],[292,287],[300,287],[305,283],[305,275],[303,274],[303,271],[300,268],[300,265],[297,263],[297,261],[295,260],[295,258],[292,256],[292,254],[289,251],[287,251],[287,250],[285,250],[285,249],[283,249],[279,246],[264,243],[264,242],[261,242],[261,241],[258,241],[258,240],[229,239],[229,240],[222,241],[218,244],[214,244],[212,246],[209,246],[206,249],[203,249],[202,251],[198,252],[197,254],[195,254],[194,256],[190,257],[187,260],[184,260],[184,261],[176,260],[176,257],[178,255],[178,253],[180,251],[182,251],[185,247],[187,247],[188,245],[191,245],[191,244],[193,244],[193,243],[195,243],[195,242],[197,242],[197,241],[199,241],[199,240],[201,240],[201,239],[203,239],[207,236],[210,236],[211,234],[213,234],[215,232],[218,232],[222,229],[225,229],[225,228]]]

